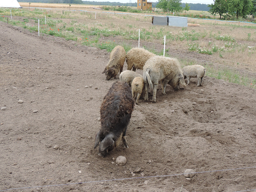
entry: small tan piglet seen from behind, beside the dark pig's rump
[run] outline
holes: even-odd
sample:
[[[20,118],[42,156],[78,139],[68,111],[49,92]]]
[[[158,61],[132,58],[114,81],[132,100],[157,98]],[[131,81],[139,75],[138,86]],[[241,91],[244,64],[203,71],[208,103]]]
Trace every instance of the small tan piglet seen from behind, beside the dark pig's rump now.
[[[139,98],[142,95],[144,97],[145,94],[145,86],[143,77],[135,77],[132,81],[132,97],[135,99],[136,97],[136,104],[139,104]]]

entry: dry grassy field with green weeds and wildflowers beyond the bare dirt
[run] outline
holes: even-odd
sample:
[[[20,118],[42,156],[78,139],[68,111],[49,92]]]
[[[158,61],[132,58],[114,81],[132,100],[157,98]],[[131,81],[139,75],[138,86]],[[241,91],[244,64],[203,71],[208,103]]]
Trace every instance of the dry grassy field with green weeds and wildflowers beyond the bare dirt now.
[[[0,20],[40,33],[74,40],[77,44],[97,46],[109,51],[122,45],[128,51],[140,46],[163,54],[166,36],[166,56],[177,57],[182,65],[201,64],[208,76],[255,87],[256,85],[256,24],[188,18],[199,27],[153,26],[152,16],[162,12],[128,13],[105,11],[93,5],[20,3],[22,9],[0,8]],[[29,8],[28,8],[29,7]],[[186,14],[208,12],[188,11]],[[46,25],[45,25],[46,18]],[[180,52],[180,54],[179,54]],[[183,54],[186,53],[186,54]]]

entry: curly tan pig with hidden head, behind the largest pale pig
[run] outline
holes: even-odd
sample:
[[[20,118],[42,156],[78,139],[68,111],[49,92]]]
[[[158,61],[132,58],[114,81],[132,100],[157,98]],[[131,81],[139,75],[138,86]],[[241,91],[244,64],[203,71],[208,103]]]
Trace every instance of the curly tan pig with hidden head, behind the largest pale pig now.
[[[142,70],[146,61],[153,56],[155,56],[154,53],[144,48],[132,48],[126,54],[127,70]]]

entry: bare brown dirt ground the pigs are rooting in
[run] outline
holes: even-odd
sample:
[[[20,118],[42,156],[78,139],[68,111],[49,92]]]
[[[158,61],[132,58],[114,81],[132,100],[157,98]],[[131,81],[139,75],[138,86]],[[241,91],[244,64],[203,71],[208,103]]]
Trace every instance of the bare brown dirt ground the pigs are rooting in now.
[[[158,89],[156,104],[134,107],[129,148],[102,158],[93,146],[114,82],[102,74],[109,52],[3,22],[0,29],[0,191],[256,189],[248,168],[256,166],[255,89],[207,76],[201,87],[192,78],[179,91]],[[185,178],[186,169],[200,173]]]

